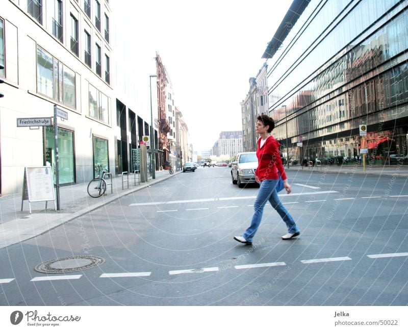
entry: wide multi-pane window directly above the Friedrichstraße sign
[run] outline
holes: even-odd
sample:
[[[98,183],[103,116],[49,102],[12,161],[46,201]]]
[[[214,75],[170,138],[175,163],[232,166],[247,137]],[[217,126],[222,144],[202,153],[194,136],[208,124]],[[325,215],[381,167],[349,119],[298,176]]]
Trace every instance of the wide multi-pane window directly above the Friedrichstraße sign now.
[[[75,72],[37,47],[37,92],[75,109],[77,106]]]

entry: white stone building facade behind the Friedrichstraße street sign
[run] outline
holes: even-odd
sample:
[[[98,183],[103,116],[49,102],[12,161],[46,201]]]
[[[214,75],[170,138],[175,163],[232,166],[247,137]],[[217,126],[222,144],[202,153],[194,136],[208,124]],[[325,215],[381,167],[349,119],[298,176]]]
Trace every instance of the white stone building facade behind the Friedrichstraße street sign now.
[[[58,121],[60,184],[89,181],[95,165],[115,167],[111,9],[107,2],[2,1],[0,193],[21,192],[24,167],[55,173],[53,126],[17,127],[17,118]],[[37,129],[37,130],[30,130]]]

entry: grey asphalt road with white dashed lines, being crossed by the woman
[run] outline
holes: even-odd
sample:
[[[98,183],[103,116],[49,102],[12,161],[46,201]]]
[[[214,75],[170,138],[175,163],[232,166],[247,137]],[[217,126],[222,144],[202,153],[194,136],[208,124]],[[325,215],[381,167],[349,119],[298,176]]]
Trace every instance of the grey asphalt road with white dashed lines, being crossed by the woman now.
[[[280,194],[301,235],[267,206],[242,235],[257,186],[199,168],[0,250],[0,305],[407,305],[408,183],[403,177],[289,170]],[[100,266],[69,278],[34,267],[71,256]]]

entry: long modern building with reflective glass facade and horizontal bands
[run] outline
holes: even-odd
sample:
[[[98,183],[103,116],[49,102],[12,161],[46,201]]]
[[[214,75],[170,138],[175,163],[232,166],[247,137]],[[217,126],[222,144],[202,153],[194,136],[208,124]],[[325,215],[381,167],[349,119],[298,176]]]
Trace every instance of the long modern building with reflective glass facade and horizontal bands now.
[[[406,156],[408,1],[294,1],[264,58],[274,137],[289,158]],[[284,38],[283,38],[284,36]],[[359,125],[367,125],[361,145]]]

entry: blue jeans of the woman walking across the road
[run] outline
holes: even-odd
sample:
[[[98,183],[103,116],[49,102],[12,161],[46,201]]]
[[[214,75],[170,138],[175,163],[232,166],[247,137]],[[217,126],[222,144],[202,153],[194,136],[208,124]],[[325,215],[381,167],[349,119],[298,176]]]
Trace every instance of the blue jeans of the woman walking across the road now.
[[[288,232],[299,232],[299,228],[297,227],[292,216],[289,214],[289,212],[286,210],[281,200],[277,196],[275,190],[276,184],[277,180],[263,180],[261,182],[257,198],[253,205],[254,213],[252,216],[251,225],[243,234],[243,237],[246,241],[252,242],[253,236],[257,233],[259,224],[261,224],[262,214],[264,213],[264,207],[266,201],[268,200],[271,206],[277,211],[277,213],[281,215],[282,219],[286,223],[286,226],[288,227]]]

